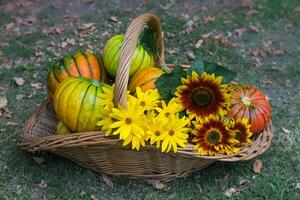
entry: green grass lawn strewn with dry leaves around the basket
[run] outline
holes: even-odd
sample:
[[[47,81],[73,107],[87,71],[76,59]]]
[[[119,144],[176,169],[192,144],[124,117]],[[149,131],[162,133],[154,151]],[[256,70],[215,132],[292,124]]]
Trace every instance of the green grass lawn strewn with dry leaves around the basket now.
[[[232,199],[300,199],[299,1],[261,0],[249,6],[228,0],[26,2],[0,1],[0,96],[8,101],[0,116],[0,200],[228,199],[225,192],[234,187],[240,192]],[[52,154],[43,155],[45,161],[38,165],[34,155],[17,146],[26,119],[47,96],[48,67],[75,50],[101,53],[109,37],[124,33],[146,11],[161,19],[167,63],[191,63],[192,51],[236,71],[236,82],[267,94],[275,137],[258,157],[260,174],[253,172],[254,159],[213,164],[168,182],[167,191],[126,177],[111,177],[110,188],[99,173]],[[83,23],[95,23],[96,29],[80,34],[77,27]],[[70,38],[75,45],[62,48]],[[203,44],[196,48],[200,39]],[[25,83],[18,86],[14,77]],[[42,87],[32,87],[34,83]],[[240,185],[243,179],[250,183]]]

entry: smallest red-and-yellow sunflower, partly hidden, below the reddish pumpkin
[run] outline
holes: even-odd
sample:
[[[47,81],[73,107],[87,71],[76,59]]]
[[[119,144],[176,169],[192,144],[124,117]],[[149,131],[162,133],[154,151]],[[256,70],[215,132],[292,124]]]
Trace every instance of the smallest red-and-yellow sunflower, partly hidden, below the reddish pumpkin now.
[[[231,122],[230,129],[234,131],[235,139],[239,141],[238,146],[244,146],[252,142],[250,139],[252,136],[250,126],[247,118],[236,118]]]

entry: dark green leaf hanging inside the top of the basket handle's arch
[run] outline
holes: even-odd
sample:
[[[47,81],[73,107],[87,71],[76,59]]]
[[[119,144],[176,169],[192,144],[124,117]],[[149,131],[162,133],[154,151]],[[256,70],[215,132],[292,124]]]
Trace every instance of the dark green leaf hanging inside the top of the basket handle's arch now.
[[[146,27],[140,38],[141,45],[152,56],[157,55],[157,40],[156,32],[149,27]]]

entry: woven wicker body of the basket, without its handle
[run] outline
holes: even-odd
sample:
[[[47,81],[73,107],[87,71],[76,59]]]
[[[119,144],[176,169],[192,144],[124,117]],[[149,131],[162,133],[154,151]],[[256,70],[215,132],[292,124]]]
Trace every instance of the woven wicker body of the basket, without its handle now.
[[[216,161],[248,160],[263,153],[268,143],[254,142],[238,156],[201,157],[193,146],[180,148],[178,153],[161,153],[154,146],[146,145],[140,151],[123,147],[114,137],[105,137],[101,131],[56,135],[57,116],[52,102],[47,99],[28,120],[21,135],[20,146],[29,152],[48,151],[68,158],[78,165],[108,175],[141,179],[171,180],[204,169]],[[271,126],[269,126],[271,129]],[[272,131],[266,133],[272,133]],[[265,138],[265,137],[263,137]],[[267,141],[272,134],[267,135]],[[256,140],[257,141],[257,140]],[[247,155],[248,149],[252,149]],[[254,150],[253,150],[254,149]],[[247,158],[247,159],[244,159]]]

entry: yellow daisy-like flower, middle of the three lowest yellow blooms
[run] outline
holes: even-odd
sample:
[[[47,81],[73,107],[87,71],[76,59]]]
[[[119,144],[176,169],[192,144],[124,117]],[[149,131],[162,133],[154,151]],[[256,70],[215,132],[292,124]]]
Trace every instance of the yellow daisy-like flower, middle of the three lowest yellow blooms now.
[[[167,132],[167,118],[161,116],[154,116],[153,112],[148,117],[148,130],[146,132],[146,139],[150,139],[150,144],[156,143],[156,147],[160,148],[161,140],[160,136]]]

